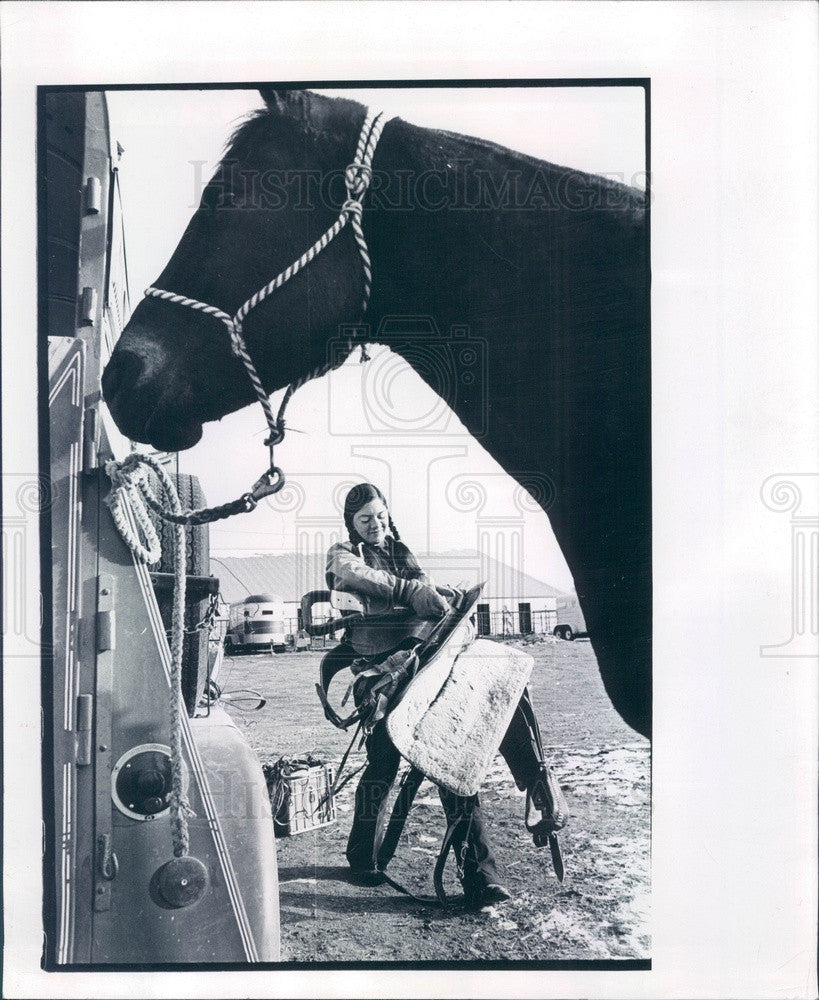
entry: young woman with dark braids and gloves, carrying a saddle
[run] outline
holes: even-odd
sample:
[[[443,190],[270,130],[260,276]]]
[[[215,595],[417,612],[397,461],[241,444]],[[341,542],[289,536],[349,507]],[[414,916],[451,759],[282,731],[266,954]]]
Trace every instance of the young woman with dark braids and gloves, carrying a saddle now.
[[[345,641],[334,651],[337,663],[367,659],[370,669],[353,688],[356,704],[360,704],[379,681],[378,671],[372,672],[371,668],[379,664],[384,664],[385,670],[395,669],[396,665],[400,668],[401,656],[408,657],[408,651],[429,634],[449,610],[455,592],[436,587],[423,571],[401,541],[384,495],[376,486],[359,483],[350,490],[344,504],[344,524],[348,541],[333,545],[327,554],[327,584],[332,590],[355,594],[364,604],[365,621],[351,626]],[[397,605],[409,608],[410,613],[391,614]],[[380,616],[380,620],[368,622],[366,618],[372,616]],[[405,677],[401,683],[408,680]],[[500,750],[518,787],[528,790],[535,808],[539,808],[542,801],[545,804],[547,769],[532,725],[536,731],[528,692],[524,692]],[[347,860],[354,880],[372,885],[383,881],[374,862],[376,834],[385,819],[387,794],[398,773],[400,755],[383,719],[367,737],[366,748],[368,762],[356,790]],[[439,793],[450,822],[463,815],[465,808],[471,810],[465,839],[456,833],[453,840],[467,906],[480,908],[508,899],[510,893],[498,875],[478,796],[466,800],[441,787]],[[562,805],[565,811],[565,803]],[[551,824],[552,830],[556,828],[554,817],[544,815],[542,822]],[[559,825],[563,823],[565,818]],[[540,842],[537,829],[533,831],[535,843]]]

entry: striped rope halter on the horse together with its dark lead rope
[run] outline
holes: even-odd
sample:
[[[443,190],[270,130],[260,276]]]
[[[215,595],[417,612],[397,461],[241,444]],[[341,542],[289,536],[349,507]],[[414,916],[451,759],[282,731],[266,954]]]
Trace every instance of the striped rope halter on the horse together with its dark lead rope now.
[[[310,382],[315,378],[320,378],[321,376],[326,375],[327,372],[338,368],[344,363],[345,358],[340,358],[338,360],[330,358],[323,364],[317,365],[305,375],[291,382],[285,391],[281,405],[279,406],[279,412],[274,417],[273,409],[270,405],[270,398],[265,392],[262,380],[259,378],[259,373],[256,370],[256,366],[253,364],[250,352],[247,349],[247,344],[242,336],[242,323],[252,309],[255,309],[257,305],[264,302],[269,295],[272,295],[273,292],[281,288],[282,285],[288,282],[295,274],[298,274],[302,268],[306,267],[311,260],[320,254],[321,251],[324,250],[325,247],[327,247],[332,240],[336,238],[336,236],[338,236],[348,222],[352,226],[353,235],[361,255],[361,264],[364,272],[364,293],[361,306],[362,315],[366,312],[372,289],[372,263],[370,261],[370,252],[367,247],[367,241],[364,237],[364,230],[361,225],[361,216],[364,211],[363,198],[367,193],[370,181],[372,180],[372,160],[375,154],[375,147],[378,145],[378,140],[381,137],[381,131],[384,127],[383,118],[384,116],[380,112],[376,115],[369,112],[367,113],[364,125],[362,126],[358,137],[355,159],[344,171],[344,184],[347,189],[347,200],[342,205],[339,217],[333,225],[330,226],[330,228],[326,230],[326,232],[324,232],[311,247],[309,247],[309,249],[305,250],[301,257],[293,261],[289,267],[286,267],[283,271],[277,274],[272,281],[268,282],[257,292],[254,292],[249,299],[242,303],[234,316],[229,316],[226,312],[224,312],[224,310],[218,309],[216,306],[209,305],[207,302],[200,302],[198,299],[192,299],[186,295],[178,295],[176,292],[169,292],[162,288],[156,288],[153,285],[145,289],[145,295],[148,297],[162,299],[166,302],[174,303],[175,305],[186,306],[189,309],[194,309],[195,311],[204,313],[205,315],[213,316],[215,319],[221,320],[221,322],[227,327],[231,341],[231,349],[234,355],[238,357],[245,366],[248,378],[250,379],[253,390],[256,393],[256,398],[264,411],[265,420],[267,421],[267,426],[270,430],[270,436],[265,439],[265,444],[270,450],[270,466],[267,474],[268,482],[264,487],[265,492],[267,493],[277,492],[284,485],[284,475],[281,470],[275,466],[273,461],[273,447],[284,437],[284,413],[290,399],[293,396],[293,393],[296,389],[305,385],[307,382]],[[348,347],[352,350],[352,338],[348,341]],[[369,360],[363,344],[361,360]],[[271,477],[273,479],[272,483],[269,481]],[[259,483],[256,484],[256,487],[258,486]],[[255,494],[256,489],[254,488],[253,493],[245,493],[237,500],[231,501],[228,504],[223,504],[221,507],[203,508],[200,511],[188,511],[185,514],[181,514],[178,511],[163,510],[156,504],[153,498],[146,496],[146,499],[151,508],[168,521],[184,524],[203,524],[210,521],[220,520],[225,517],[230,517],[233,514],[253,510],[258,502],[258,498]]]

